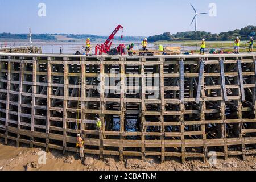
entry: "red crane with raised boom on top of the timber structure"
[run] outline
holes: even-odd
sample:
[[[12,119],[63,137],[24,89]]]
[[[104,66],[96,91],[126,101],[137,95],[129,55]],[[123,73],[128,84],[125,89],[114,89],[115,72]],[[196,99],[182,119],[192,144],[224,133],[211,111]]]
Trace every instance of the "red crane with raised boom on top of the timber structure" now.
[[[118,47],[110,49],[113,43],[114,36],[115,34],[117,34],[119,30],[123,30],[123,27],[121,25],[118,25],[117,28],[115,28],[113,33],[109,36],[109,38],[105,41],[104,44],[97,45],[95,47],[95,55],[97,54],[101,55],[102,53],[107,53],[109,55],[117,55],[117,54],[122,55],[123,53],[125,53],[125,44],[120,44]],[[122,35],[121,35],[121,38],[123,38]]]

